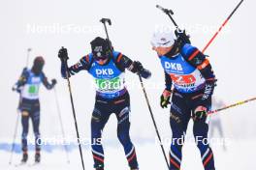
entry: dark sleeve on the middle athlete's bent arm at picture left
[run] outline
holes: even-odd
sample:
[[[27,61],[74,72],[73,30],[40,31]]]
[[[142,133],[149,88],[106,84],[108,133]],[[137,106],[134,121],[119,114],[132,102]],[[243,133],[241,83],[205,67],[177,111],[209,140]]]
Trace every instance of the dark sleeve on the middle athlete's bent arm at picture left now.
[[[68,66],[68,65],[67,65]],[[80,61],[71,67],[68,68],[68,76],[74,75],[78,73],[79,71],[87,71],[90,67],[90,60],[89,60],[89,55],[86,55],[80,59]],[[65,63],[61,62],[61,75],[63,78],[66,78],[66,67]]]

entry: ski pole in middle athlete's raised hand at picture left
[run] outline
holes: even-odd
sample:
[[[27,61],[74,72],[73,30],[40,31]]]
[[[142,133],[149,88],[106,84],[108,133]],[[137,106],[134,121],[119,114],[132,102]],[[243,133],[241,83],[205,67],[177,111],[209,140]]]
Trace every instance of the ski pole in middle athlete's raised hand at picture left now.
[[[62,46],[62,49],[64,47]],[[83,156],[82,156],[82,152],[81,152],[81,146],[80,146],[80,133],[79,133],[79,127],[78,127],[78,122],[77,122],[77,116],[76,116],[76,110],[75,110],[75,105],[74,105],[74,100],[73,100],[73,95],[72,95],[72,89],[71,89],[71,83],[70,83],[70,79],[69,77],[70,72],[69,72],[69,67],[68,67],[68,63],[67,61],[65,61],[65,71],[66,71],[66,79],[68,81],[68,88],[69,88],[69,94],[70,94],[70,101],[71,101],[71,105],[72,105],[72,113],[73,113],[73,117],[74,117],[74,122],[75,122],[75,128],[76,128],[76,132],[77,132],[77,137],[78,137],[78,143],[79,143],[79,149],[80,149],[80,161],[81,161],[81,166],[82,169],[85,170],[84,168],[84,162],[83,162]]]

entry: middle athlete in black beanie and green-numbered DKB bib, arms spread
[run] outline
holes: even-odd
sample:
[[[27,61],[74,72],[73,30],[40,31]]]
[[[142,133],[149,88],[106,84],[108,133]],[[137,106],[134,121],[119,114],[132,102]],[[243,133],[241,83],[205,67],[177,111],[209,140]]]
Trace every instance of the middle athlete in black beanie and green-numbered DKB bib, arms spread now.
[[[142,64],[132,61],[120,52],[114,51],[108,40],[97,37],[91,42],[92,52],[82,57],[78,64],[68,68],[69,74],[88,71],[95,80],[96,99],[91,118],[91,148],[94,168],[104,170],[104,151],[101,144],[102,131],[112,113],[117,118],[117,136],[132,170],[139,169],[136,150],[131,142],[129,129],[130,97],[125,87],[124,73],[127,69],[148,78],[151,73]],[[65,78],[67,49],[59,50],[61,74]]]

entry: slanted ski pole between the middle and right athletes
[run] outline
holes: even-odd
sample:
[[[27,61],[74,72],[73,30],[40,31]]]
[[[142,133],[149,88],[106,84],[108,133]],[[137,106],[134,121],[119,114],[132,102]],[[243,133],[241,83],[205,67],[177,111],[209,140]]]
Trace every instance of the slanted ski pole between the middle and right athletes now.
[[[157,128],[157,125],[156,125],[156,122],[155,122],[155,119],[154,119],[154,115],[153,115],[153,112],[152,112],[152,109],[151,109],[151,106],[150,106],[150,103],[149,103],[149,99],[147,98],[147,94],[145,92],[145,89],[144,89],[144,81],[143,81],[143,78],[140,74],[139,75],[139,79],[140,79],[140,82],[141,82],[141,85],[142,85],[142,89],[144,91],[144,99],[146,101],[146,104],[147,104],[147,107],[148,107],[148,110],[149,110],[149,113],[150,113],[150,116],[151,116],[151,119],[153,121],[153,125],[154,125],[154,128],[155,128],[155,132],[157,134],[157,138],[160,142],[160,147],[161,147],[161,150],[162,150],[162,153],[163,153],[163,156],[165,157],[165,161],[166,161],[166,165],[169,169],[169,163],[168,163],[168,158],[166,156],[166,152],[165,152],[165,149],[164,149],[164,146],[163,146],[163,143],[162,143],[162,140],[161,140],[161,137],[160,137],[160,133],[159,133],[159,130]]]

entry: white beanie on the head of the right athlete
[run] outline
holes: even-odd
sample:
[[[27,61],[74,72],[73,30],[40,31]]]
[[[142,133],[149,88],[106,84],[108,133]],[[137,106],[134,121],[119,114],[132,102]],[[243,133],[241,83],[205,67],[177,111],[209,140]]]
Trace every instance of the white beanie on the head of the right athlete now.
[[[155,31],[151,39],[154,47],[170,47],[176,41],[176,35],[172,31]]]

